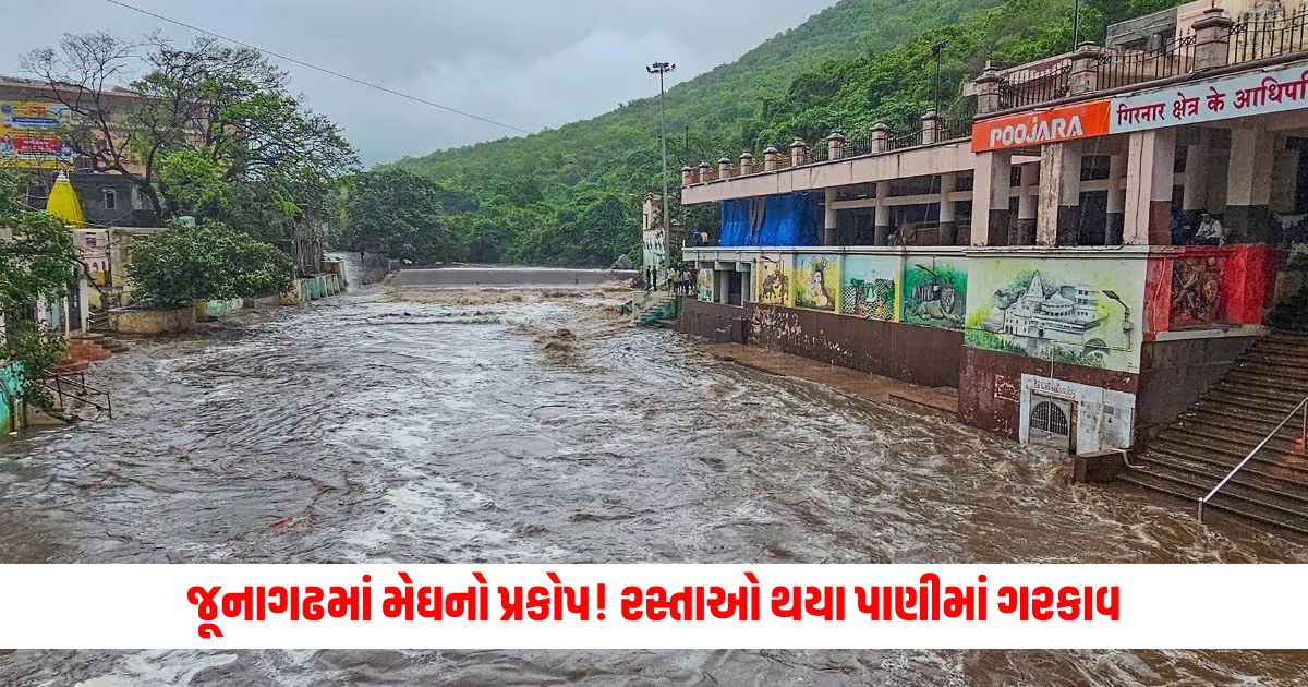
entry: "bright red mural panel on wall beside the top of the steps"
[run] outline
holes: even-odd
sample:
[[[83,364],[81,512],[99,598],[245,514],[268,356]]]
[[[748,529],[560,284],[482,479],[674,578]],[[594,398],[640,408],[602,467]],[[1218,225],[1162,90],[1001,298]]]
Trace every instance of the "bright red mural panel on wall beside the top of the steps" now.
[[[1158,249],[1144,280],[1146,332],[1260,325],[1275,279],[1267,246]]]

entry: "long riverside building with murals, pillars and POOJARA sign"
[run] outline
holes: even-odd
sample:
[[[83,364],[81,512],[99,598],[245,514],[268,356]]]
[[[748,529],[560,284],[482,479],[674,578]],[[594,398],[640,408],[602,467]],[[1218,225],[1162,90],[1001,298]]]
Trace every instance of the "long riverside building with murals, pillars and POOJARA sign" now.
[[[1146,444],[1304,287],[1308,13],[1249,12],[988,67],[971,123],[683,169],[681,202],[723,217],[684,249],[684,330],[955,387],[1022,441]]]

